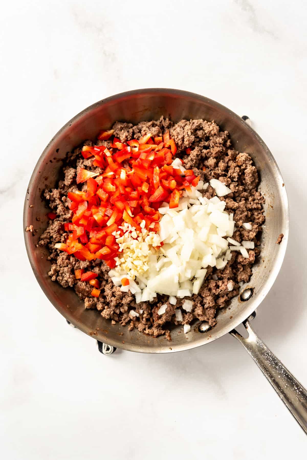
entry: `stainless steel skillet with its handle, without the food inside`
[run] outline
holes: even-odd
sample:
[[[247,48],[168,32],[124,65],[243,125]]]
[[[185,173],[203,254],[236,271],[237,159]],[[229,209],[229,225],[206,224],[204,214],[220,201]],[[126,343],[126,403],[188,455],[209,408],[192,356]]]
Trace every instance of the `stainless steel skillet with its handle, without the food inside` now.
[[[114,121],[156,120],[161,115],[173,121],[203,118],[214,120],[223,130],[230,132],[236,150],[248,152],[261,175],[260,190],[266,197],[266,223],[262,236],[261,257],[253,268],[250,282],[242,291],[251,289],[245,301],[235,298],[229,309],[221,310],[217,324],[201,332],[200,322],[191,327],[189,334],[172,331],[171,344],[163,337],[154,339],[138,331],[127,331],[119,324],[111,326],[97,311],[84,310],[83,302],[71,289],[63,289],[47,275],[50,262],[46,249],[36,247],[40,234],[46,229],[46,207],[41,200],[45,187],[54,187],[62,166],[61,160],[75,145],[94,138],[101,128],[110,127]],[[74,326],[106,344],[128,351],[144,353],[170,353],[205,345],[230,333],[249,352],[266,378],[277,391],[295,419],[307,432],[307,393],[292,374],[272,354],[255,334],[249,316],[260,305],[275,281],[284,259],[289,233],[289,207],[283,178],[266,144],[239,116],[221,104],[197,94],[172,89],[143,89],[117,94],[99,101],[70,120],[52,138],[43,151],[29,182],[24,205],[24,228],[33,225],[37,231],[25,233],[25,243],[32,269],[41,288],[57,310]],[[284,234],[280,245],[276,244]],[[243,322],[249,337],[243,338],[235,328]]]

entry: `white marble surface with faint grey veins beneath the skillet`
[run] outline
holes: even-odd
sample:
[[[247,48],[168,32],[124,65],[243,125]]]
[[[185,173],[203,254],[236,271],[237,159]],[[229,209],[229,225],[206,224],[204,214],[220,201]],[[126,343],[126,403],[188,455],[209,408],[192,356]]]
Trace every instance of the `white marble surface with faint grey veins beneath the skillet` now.
[[[284,265],[254,327],[307,385],[306,13],[303,1],[277,0],[1,6],[3,458],[304,457],[305,435],[231,336],[167,356],[104,357],[69,328],[30,269],[22,210],[52,135],[109,95],[173,87],[249,115],[291,213]]]

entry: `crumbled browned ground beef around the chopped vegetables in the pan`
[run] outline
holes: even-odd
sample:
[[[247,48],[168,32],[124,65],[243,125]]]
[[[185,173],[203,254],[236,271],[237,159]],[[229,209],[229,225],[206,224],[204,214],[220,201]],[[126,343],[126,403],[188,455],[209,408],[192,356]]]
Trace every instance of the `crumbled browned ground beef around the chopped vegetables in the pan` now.
[[[155,337],[166,334],[170,339],[168,328],[171,323],[189,324],[193,319],[198,318],[214,326],[217,309],[229,305],[232,297],[238,294],[239,282],[249,281],[255,257],[260,254],[259,236],[261,225],[265,220],[262,209],[265,200],[257,191],[258,173],[252,164],[252,159],[247,153],[234,150],[228,132],[221,132],[214,121],[181,120],[179,123],[173,123],[161,117],[159,121],[142,121],[136,126],[131,123],[116,122],[113,129],[115,136],[122,142],[132,138],[139,139],[148,132],[151,132],[152,136],[161,136],[169,129],[178,147],[177,156],[184,160],[187,169],[192,168],[205,182],[211,178],[220,179],[232,190],[232,193],[220,199],[225,199],[226,210],[234,213],[237,230],[233,238],[239,242],[253,241],[255,249],[249,250],[249,259],[244,259],[240,253],[233,252],[232,259],[223,270],[208,267],[202,288],[197,295],[192,296],[191,313],[182,310],[182,322],[176,321],[175,309],[181,307],[184,299],[178,299],[176,305],[171,305],[168,296],[157,294],[157,298],[152,302],[136,304],[132,294],[122,293],[120,288],[114,286],[108,277],[109,268],[104,262],[100,260],[81,262],[72,255],[54,249],[54,243],[64,242],[67,236],[63,230],[63,223],[68,222],[72,214],[68,208],[70,200],[67,198],[67,193],[78,188],[76,168],[86,167],[102,172],[100,168],[92,167],[93,159],[83,159],[80,155],[82,147],[80,146],[67,155],[58,188],[44,192],[49,207],[58,214],[58,218],[49,221],[48,228],[41,235],[39,242],[41,246],[47,246],[51,253],[49,259],[52,265],[49,276],[52,277],[52,281],[57,281],[64,288],[69,286],[74,288],[77,295],[84,299],[85,308],[97,309],[104,318],[112,320],[112,324],[115,322],[128,324],[129,330],[138,328],[139,331]],[[86,141],[84,144],[93,145],[92,141]],[[96,141],[96,144],[110,147],[109,141]],[[188,147],[191,148],[190,155],[185,154],[185,149]],[[206,167],[205,171],[203,167]],[[83,184],[82,187],[86,188],[86,185]],[[215,196],[214,189],[210,185],[204,192],[204,196],[207,198]],[[252,229],[244,230],[242,227],[244,222],[251,222]],[[101,284],[98,298],[91,296],[92,287],[89,283],[75,279],[74,270],[80,268],[98,273]],[[231,280],[235,283],[234,289],[228,291],[227,283]],[[168,305],[167,310],[160,316],[157,311],[165,303]],[[139,317],[130,317],[131,309],[137,312],[143,310],[143,313],[139,313]]]

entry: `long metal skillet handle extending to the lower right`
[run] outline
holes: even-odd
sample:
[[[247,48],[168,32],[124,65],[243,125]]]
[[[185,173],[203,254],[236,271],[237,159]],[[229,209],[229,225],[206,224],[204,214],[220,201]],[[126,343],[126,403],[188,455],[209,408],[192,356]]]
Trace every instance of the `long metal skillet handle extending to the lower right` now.
[[[249,334],[246,339],[235,329],[230,334],[243,345],[307,434],[307,391],[262,342],[248,319],[243,322],[243,326]]]

